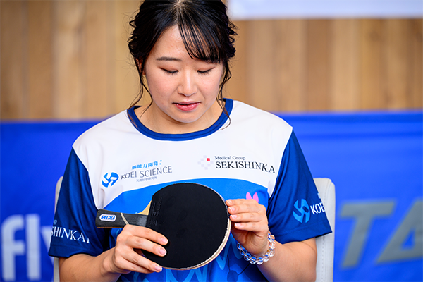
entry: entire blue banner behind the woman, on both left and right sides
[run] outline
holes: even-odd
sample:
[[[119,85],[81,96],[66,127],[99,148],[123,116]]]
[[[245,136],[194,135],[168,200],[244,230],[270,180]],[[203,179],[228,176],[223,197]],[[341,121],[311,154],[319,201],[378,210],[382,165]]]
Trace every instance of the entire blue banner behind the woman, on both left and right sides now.
[[[278,115],[336,185],[334,281],[423,281],[422,111]],[[56,181],[95,123],[0,124],[1,281],[52,280]]]

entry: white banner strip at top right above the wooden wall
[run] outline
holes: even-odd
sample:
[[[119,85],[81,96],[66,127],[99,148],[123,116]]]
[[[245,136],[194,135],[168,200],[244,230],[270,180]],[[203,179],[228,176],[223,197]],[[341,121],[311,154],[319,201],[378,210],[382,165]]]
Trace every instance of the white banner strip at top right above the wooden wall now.
[[[422,0],[228,0],[232,20],[423,18]]]

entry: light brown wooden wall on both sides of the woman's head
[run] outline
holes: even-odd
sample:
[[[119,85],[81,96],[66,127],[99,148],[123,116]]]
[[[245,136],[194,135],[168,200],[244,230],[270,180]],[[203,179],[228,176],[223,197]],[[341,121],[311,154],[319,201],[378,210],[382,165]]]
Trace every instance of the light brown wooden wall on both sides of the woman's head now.
[[[104,118],[127,108],[139,92],[127,45],[139,4],[0,1],[0,118]],[[269,111],[423,108],[422,19],[235,25],[228,97]]]

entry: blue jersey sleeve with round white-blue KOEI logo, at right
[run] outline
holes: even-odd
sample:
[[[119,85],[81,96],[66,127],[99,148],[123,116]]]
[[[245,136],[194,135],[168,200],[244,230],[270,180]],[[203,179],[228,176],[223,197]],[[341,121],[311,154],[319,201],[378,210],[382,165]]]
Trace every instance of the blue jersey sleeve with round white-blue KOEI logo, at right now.
[[[331,233],[323,204],[294,132],[283,152],[267,216],[269,229],[279,243],[302,241]]]

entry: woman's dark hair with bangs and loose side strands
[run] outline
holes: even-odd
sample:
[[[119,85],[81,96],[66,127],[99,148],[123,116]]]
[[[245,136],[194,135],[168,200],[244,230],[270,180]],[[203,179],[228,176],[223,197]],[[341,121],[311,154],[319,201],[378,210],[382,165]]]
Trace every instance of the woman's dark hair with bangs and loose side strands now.
[[[178,25],[185,48],[192,58],[223,63],[223,79],[217,102],[226,113],[223,85],[231,78],[229,61],[235,56],[233,42],[236,32],[235,25],[226,14],[226,5],[221,0],[145,0],[130,25],[133,32],[128,46],[141,85],[140,93],[130,107],[140,102],[144,88],[147,90],[142,73],[154,44],[169,27]]]

